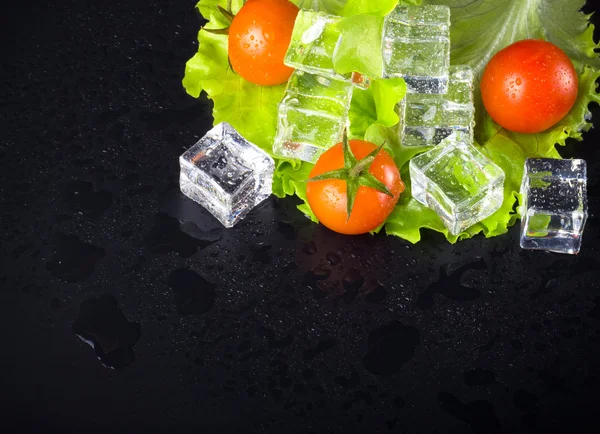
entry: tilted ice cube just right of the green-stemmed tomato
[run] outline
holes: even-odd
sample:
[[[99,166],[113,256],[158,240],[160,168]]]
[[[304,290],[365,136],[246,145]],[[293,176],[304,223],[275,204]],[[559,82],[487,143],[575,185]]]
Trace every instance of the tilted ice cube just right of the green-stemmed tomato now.
[[[504,199],[504,172],[467,143],[463,133],[410,161],[412,196],[433,209],[452,235],[497,211]]]

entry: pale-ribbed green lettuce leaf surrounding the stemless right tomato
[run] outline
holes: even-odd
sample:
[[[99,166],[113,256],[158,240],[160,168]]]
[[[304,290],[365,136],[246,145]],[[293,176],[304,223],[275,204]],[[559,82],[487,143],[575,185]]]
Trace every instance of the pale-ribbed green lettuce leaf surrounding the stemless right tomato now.
[[[555,144],[564,145],[567,138],[581,140],[581,132],[591,127],[587,105],[597,99],[593,83],[600,70],[600,57],[594,52],[600,47],[593,40],[594,26],[589,24],[590,15],[579,11],[585,1],[424,0],[423,4],[450,8],[451,63],[471,66],[478,78],[492,56],[513,42],[544,39],[560,47],[581,74],[577,103],[569,116],[549,131],[510,136],[517,143],[538,143],[544,148],[540,154],[551,152]],[[479,86],[475,89],[476,139],[486,143],[500,127],[487,115]],[[566,134],[560,134],[560,131]]]

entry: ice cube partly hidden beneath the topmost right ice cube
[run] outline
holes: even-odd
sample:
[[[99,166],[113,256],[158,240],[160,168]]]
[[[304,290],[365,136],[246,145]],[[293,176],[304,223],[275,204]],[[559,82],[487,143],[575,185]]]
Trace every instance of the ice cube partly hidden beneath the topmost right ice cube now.
[[[473,71],[451,66],[448,93],[407,94],[400,104],[400,134],[404,146],[435,146],[455,131],[473,143],[475,106]]]

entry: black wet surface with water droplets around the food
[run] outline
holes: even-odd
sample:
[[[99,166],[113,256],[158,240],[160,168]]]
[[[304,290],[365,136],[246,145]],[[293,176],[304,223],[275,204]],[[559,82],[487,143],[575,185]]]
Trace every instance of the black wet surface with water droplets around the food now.
[[[194,4],[3,9],[0,432],[599,432],[597,131],[578,256],[224,230],[178,192]]]

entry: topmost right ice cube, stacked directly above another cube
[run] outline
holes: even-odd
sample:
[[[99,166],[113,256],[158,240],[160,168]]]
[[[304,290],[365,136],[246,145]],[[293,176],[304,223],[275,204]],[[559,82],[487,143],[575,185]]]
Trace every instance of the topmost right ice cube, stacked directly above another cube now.
[[[450,9],[398,6],[383,25],[383,77],[402,77],[409,93],[446,93]]]

